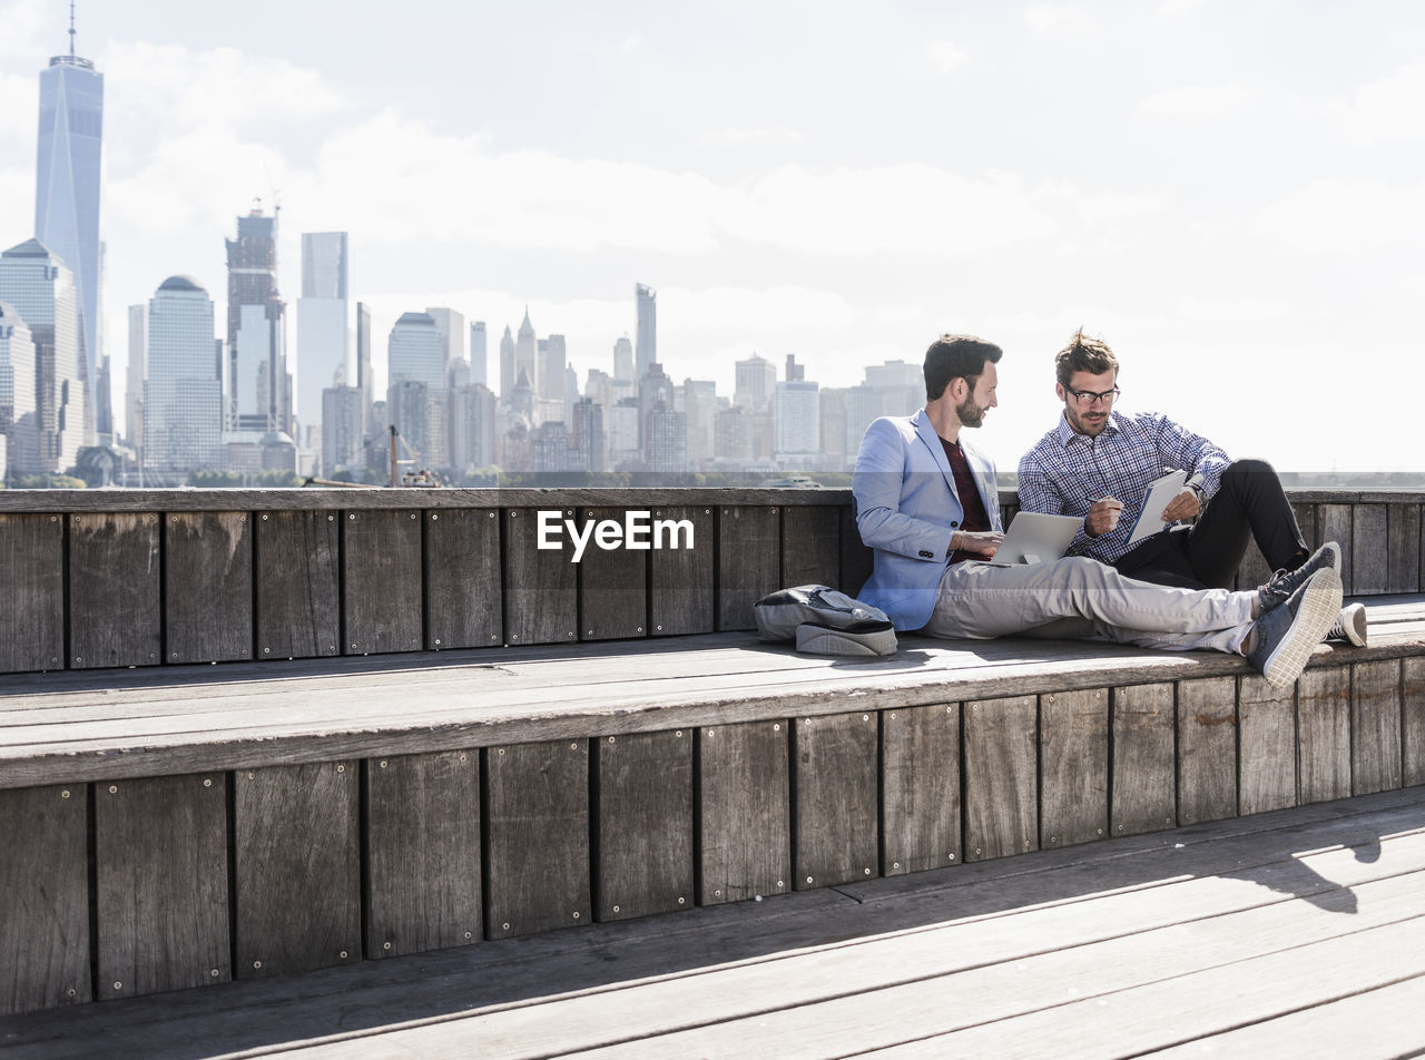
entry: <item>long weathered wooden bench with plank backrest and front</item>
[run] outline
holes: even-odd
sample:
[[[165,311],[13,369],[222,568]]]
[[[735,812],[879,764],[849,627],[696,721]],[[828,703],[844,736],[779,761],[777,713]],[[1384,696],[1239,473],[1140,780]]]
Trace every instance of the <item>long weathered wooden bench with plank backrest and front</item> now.
[[[1278,694],[1206,653],[760,644],[764,593],[859,586],[845,492],[0,494],[0,1012],[1425,782],[1422,497],[1294,500],[1372,645]],[[694,547],[576,566],[540,510]]]

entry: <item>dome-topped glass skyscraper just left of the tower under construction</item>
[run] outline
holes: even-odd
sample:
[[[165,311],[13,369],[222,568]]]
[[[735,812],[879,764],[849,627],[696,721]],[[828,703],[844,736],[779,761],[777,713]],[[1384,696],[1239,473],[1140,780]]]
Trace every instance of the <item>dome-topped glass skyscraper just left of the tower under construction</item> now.
[[[144,466],[222,466],[222,380],[212,359],[212,299],[191,276],[170,276],[148,302]]]

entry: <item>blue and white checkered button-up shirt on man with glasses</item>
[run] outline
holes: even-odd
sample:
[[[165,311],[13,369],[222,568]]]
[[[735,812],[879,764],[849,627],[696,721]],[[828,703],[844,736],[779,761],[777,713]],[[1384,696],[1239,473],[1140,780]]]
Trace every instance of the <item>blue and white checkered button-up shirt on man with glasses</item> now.
[[[1123,514],[1112,531],[1090,537],[1080,530],[1069,546],[1070,556],[1113,563],[1129,551],[1149,483],[1164,472],[1184,470],[1188,482],[1211,497],[1228,463],[1227,453],[1206,437],[1156,412],[1114,412],[1096,437],[1076,433],[1060,416],[1059,426],[1019,462],[1019,506],[1087,516],[1100,497],[1121,500]]]

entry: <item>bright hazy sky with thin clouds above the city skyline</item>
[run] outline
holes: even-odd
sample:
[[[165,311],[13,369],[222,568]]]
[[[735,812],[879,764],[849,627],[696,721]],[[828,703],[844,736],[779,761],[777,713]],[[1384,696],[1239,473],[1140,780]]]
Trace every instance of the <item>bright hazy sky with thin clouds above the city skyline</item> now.
[[[33,235],[38,71],[68,4],[0,0],[0,244]],[[497,343],[524,308],[580,386],[658,291],[674,380],[788,353],[822,386],[999,343],[975,436],[1054,423],[1053,355],[1119,355],[1124,410],[1282,470],[1421,470],[1425,4],[77,0],[105,78],[105,349],[281,205],[351,234],[378,383],[402,312]],[[295,341],[295,313],[289,342]],[[909,409],[906,412],[911,412]]]

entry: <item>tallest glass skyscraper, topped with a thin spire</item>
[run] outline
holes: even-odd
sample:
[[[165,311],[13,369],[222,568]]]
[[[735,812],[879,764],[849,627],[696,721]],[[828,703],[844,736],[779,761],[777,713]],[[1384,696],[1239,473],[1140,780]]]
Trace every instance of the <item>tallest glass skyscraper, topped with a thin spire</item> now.
[[[104,132],[104,76],[74,54],[74,10],[70,9],[70,54],[54,56],[40,71],[40,144],[36,165],[34,238],[68,266],[78,315],[76,346],[86,400],[81,443],[93,442],[93,403],[98,393],[95,365],[100,345],[100,147]],[[23,312],[23,311],[21,311]],[[30,322],[34,326],[34,322]]]

